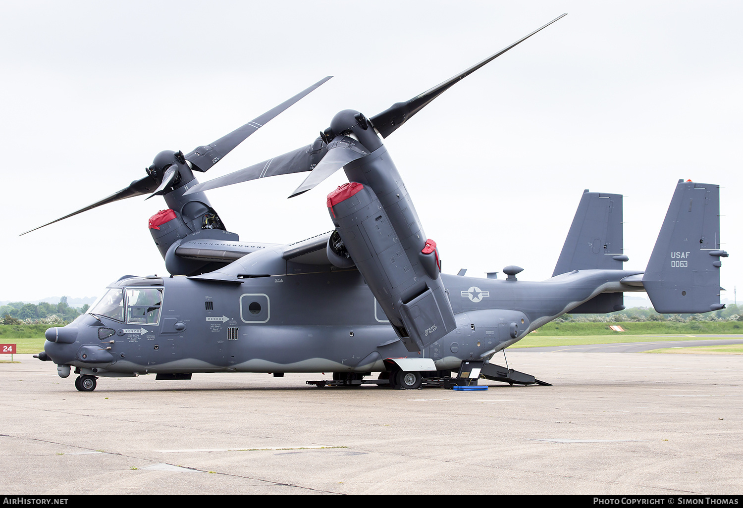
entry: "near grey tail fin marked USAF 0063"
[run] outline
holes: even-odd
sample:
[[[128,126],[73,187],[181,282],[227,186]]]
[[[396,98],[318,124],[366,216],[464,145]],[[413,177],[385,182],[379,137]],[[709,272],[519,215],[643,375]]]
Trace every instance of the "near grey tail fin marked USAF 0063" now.
[[[678,180],[643,286],[660,313],[702,313],[720,304],[720,187]]]

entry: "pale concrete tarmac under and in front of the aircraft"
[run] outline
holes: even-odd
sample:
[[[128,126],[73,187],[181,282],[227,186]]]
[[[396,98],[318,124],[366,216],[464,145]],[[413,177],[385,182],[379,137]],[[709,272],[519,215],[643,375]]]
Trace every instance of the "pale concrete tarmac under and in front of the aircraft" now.
[[[743,356],[514,350],[510,368],[553,385],[478,392],[194,374],[81,393],[15,358],[0,364],[3,494],[743,492]]]

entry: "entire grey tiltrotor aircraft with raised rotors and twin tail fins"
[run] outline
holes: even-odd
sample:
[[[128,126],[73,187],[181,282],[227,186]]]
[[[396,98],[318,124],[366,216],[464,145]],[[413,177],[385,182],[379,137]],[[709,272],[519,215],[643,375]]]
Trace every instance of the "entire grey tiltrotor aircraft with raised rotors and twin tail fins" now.
[[[63,218],[134,195],[163,195],[168,209],[150,218],[149,228],[172,275],[115,281],[87,313],[48,329],[36,356],[56,363],[60,377],[74,369],[80,391],[94,390],[99,377],[190,379],[195,372],[322,371],[345,385],[379,372],[377,384],[418,388],[459,370],[461,377],[531,384],[538,381],[490,359],[563,313],[622,310],[623,293],[641,290],[661,313],[723,308],[719,188],[690,180],[679,180],[645,270],[623,268],[622,196],[586,190],[551,279],[519,280],[516,266],[505,267],[500,280],[441,273],[438,246],[424,234],[381,138],[557,19],[373,117],[340,111],[310,145],[230,175],[198,183],[194,172],[210,169],[329,78],[215,143],[188,154],[160,152],[146,177]],[[294,244],[240,241],[204,195],[309,172],[295,196],[339,169],[348,183],[325,198],[331,231]]]

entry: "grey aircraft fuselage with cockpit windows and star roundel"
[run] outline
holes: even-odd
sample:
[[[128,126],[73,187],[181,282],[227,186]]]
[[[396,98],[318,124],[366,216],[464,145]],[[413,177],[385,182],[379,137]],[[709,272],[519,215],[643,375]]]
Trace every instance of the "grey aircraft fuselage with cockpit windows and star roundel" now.
[[[370,372],[385,371],[384,359],[400,357],[430,358],[444,371],[462,360],[490,358],[599,293],[632,290],[619,281],[635,273],[581,270],[542,282],[441,274],[457,328],[418,354],[407,351],[354,269],[320,268],[241,283],[123,278],[110,287],[124,295],[161,291],[159,310],[143,309],[150,324],[132,317],[130,298],[117,319],[88,313],[65,328],[51,328],[47,339],[57,342],[48,340],[45,351],[58,365],[97,376]]]

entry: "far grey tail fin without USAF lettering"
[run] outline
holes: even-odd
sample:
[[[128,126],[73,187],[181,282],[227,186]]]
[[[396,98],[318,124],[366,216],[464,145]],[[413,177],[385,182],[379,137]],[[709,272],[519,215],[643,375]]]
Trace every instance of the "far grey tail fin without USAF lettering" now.
[[[552,276],[572,270],[621,270],[622,195],[583,191]]]

